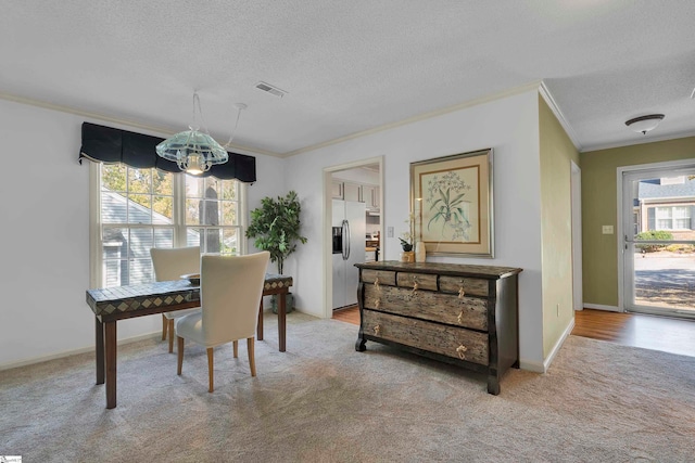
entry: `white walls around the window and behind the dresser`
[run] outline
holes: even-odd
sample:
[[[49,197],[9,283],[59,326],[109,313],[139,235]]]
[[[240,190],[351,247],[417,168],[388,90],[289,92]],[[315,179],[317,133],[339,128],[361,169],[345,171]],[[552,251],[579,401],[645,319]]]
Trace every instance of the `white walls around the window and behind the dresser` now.
[[[3,266],[0,270],[0,368],[91,349],[88,168],[77,164],[84,117],[0,100],[1,155],[24,170],[4,175]],[[90,120],[104,124],[99,120]],[[114,126],[112,124],[104,124]],[[128,127],[122,127],[128,129]],[[130,130],[140,131],[130,128]],[[153,133],[156,134],[156,133]],[[306,245],[286,262],[294,278],[296,306],[323,317],[326,284],[323,249],[323,169],[384,156],[384,227],[397,236],[406,227],[409,163],[485,147],[494,149],[495,258],[432,260],[521,267],[521,364],[542,364],[541,207],[538,93],[504,100],[279,159],[256,156],[258,181],[249,188],[250,208],[262,197],[295,190],[302,202]],[[384,258],[399,256],[397,239],[383,237]],[[118,338],[161,330],[159,317],[118,323]],[[291,339],[289,340],[291,346]]]

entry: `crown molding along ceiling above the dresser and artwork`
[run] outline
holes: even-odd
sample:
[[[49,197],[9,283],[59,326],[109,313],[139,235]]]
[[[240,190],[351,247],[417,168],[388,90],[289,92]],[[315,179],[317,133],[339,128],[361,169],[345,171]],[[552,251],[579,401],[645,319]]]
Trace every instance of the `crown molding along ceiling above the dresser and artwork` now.
[[[448,114],[448,113],[454,113],[456,111],[460,111],[460,110],[465,110],[467,107],[472,107],[472,106],[478,106],[480,104],[485,104],[485,103],[490,103],[492,101],[495,100],[503,100],[505,98],[509,98],[509,97],[514,97],[520,93],[526,93],[528,91],[531,90],[535,90],[539,88],[539,86],[542,85],[542,80],[534,80],[532,82],[526,83],[523,86],[519,86],[519,87],[513,87],[510,89],[507,90],[503,90],[501,92],[496,92],[496,93],[491,93],[484,97],[480,97],[473,100],[469,100],[466,101],[464,103],[458,103],[455,104],[453,106],[447,106],[441,110],[435,110],[435,111],[431,111],[429,113],[422,113],[419,114],[417,116],[413,116],[413,117],[408,117],[407,119],[403,119],[403,120],[399,120],[395,123],[391,123],[391,124],[384,124],[383,126],[379,126],[379,127],[375,127],[371,129],[367,129],[367,130],[363,130],[359,132],[355,132],[355,133],[351,133],[349,136],[345,137],[340,137],[333,140],[329,140],[329,141],[325,141],[321,143],[317,143],[317,144],[313,144],[309,146],[305,146],[299,150],[294,150],[294,151],[290,151],[288,153],[283,154],[283,157],[290,157],[290,156],[296,156],[298,154],[303,154],[303,153],[307,153],[309,151],[315,151],[315,150],[319,150],[321,147],[326,147],[326,146],[330,146],[333,144],[339,144],[339,143],[343,143],[346,142],[349,140],[354,140],[354,139],[358,139],[358,138],[363,138],[363,137],[367,137],[374,133],[378,133],[378,132],[382,132],[386,130],[390,130],[390,129],[394,129],[396,127],[402,127],[402,126],[406,126],[408,124],[413,124],[413,123],[418,123],[421,120],[426,120],[426,119],[431,119],[434,117],[439,117],[442,116],[444,114]]]

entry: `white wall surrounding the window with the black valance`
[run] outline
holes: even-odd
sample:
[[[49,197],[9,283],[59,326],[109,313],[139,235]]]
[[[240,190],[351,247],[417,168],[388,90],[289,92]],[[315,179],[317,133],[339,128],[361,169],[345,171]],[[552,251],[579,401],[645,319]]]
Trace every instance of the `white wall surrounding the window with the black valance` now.
[[[0,100],[2,266],[0,369],[93,349],[89,287],[89,169],[81,123],[138,129]],[[156,134],[156,133],[151,133]],[[256,156],[249,203],[285,193],[282,160]],[[12,170],[16,166],[16,170]],[[118,338],[161,332],[157,317],[118,322]]]

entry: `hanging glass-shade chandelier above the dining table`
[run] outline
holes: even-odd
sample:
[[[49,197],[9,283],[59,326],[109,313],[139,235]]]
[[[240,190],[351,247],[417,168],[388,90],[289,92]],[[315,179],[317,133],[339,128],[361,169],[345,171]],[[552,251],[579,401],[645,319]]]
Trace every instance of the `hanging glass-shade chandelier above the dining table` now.
[[[200,98],[198,93],[193,93],[193,123],[188,126],[189,130],[178,132],[175,136],[164,140],[156,145],[156,154],[161,157],[172,160],[178,165],[178,168],[185,170],[186,173],[199,176],[207,170],[214,164],[224,164],[229,159],[227,147],[237,131],[239,125],[239,116],[241,110],[247,107],[245,104],[235,104],[237,108],[237,123],[229,137],[229,141],[222,146],[208,133],[205,121],[203,120],[203,112],[200,107]],[[198,108],[198,112],[197,112]],[[197,114],[203,123],[204,132],[199,131]]]

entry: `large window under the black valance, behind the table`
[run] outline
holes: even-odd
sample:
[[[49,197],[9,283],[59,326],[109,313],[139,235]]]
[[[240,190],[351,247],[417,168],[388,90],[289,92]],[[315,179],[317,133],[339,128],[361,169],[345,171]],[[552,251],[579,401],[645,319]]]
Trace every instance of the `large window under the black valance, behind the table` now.
[[[92,287],[153,281],[151,247],[243,254],[243,183],[125,164],[93,164],[91,176]]]

